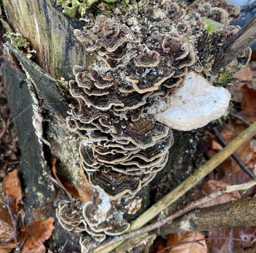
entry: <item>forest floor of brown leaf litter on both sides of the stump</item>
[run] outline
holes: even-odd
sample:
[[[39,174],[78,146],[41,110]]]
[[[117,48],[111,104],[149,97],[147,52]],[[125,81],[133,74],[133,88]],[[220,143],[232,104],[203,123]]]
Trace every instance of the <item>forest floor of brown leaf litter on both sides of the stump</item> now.
[[[218,127],[227,143],[256,121],[256,61],[251,61],[246,68],[236,73],[234,84],[231,87],[234,99],[229,109],[230,114],[222,119],[221,128]],[[25,193],[19,177],[20,151],[13,121],[15,118],[11,118],[3,83],[0,82],[0,252],[15,252],[15,249],[16,252],[46,252],[44,243],[54,230],[54,219],[35,220],[29,226],[24,226],[22,199]],[[222,145],[212,131],[205,132],[197,143],[198,156],[207,159],[221,149]],[[255,152],[256,138],[246,142],[236,152],[251,171],[255,170]],[[245,183],[248,180],[249,176],[229,157],[210,173],[202,187],[195,188],[191,201],[221,187]],[[255,195],[256,188],[250,188],[246,192],[224,194],[207,203],[207,206]],[[56,252],[51,247],[49,249],[49,245],[47,250]],[[65,245],[61,252],[66,252]],[[160,252],[256,252],[256,226],[223,228],[207,233],[172,233],[165,238],[157,237],[150,253]]]

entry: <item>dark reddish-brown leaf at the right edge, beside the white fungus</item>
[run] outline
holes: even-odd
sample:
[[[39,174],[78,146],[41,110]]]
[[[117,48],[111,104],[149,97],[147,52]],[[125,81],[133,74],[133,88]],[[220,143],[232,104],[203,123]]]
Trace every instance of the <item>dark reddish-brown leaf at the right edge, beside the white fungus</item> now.
[[[245,120],[253,122],[256,120],[256,90],[243,85],[241,92],[243,94],[241,114],[245,116]]]

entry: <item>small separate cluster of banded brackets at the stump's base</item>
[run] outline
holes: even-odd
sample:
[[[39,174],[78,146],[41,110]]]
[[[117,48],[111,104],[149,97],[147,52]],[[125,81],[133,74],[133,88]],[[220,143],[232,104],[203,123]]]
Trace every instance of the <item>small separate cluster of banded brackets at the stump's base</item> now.
[[[98,211],[91,201],[86,202],[82,210],[72,208],[71,202],[59,202],[56,216],[65,230],[86,231],[98,242],[103,242],[106,235],[120,235],[130,227],[120,214],[107,216],[102,210]]]

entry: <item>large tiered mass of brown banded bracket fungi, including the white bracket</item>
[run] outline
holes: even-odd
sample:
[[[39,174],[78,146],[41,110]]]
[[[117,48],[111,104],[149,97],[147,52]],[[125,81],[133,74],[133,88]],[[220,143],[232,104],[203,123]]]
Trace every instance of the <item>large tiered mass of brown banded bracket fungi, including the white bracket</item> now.
[[[97,63],[74,66],[69,85],[77,102],[70,105],[68,128],[82,139],[80,166],[89,182],[111,199],[132,197],[165,166],[170,128],[202,127],[226,112],[229,93],[205,77],[214,83],[222,74],[213,75],[211,68],[220,47],[239,30],[229,25],[239,10],[226,0],[190,3],[158,0],[144,8],[140,2],[131,6],[134,15],[98,15],[74,31]],[[207,30],[202,18],[219,25]],[[249,56],[248,50],[232,66]],[[186,111],[181,97],[200,113]]]

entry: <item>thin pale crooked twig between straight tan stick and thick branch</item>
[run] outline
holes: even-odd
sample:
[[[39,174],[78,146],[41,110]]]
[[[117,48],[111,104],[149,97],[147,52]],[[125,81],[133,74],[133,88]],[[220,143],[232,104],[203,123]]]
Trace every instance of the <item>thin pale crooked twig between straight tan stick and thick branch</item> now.
[[[170,216],[168,216],[167,218],[164,218],[160,221],[157,221],[155,223],[152,223],[148,226],[144,226],[143,228],[141,228],[140,230],[136,230],[130,233],[126,233],[124,235],[120,235],[120,237],[115,238],[115,240],[112,241],[113,242],[119,242],[120,240],[126,240],[129,239],[131,237],[135,237],[136,235],[139,235],[141,233],[146,233],[146,232],[150,232],[152,230],[155,230],[157,228],[160,228],[160,226],[165,225],[166,223],[170,223],[170,221],[182,216],[183,214],[188,213],[189,211],[196,209],[200,206],[202,206],[203,204],[207,204],[208,202],[216,199],[217,197],[223,195],[223,194],[229,194],[231,192],[236,192],[238,190],[247,190],[248,188],[253,187],[254,185],[256,185],[255,181],[250,181],[248,183],[242,183],[240,185],[229,185],[227,187],[223,187],[215,192],[213,192],[212,194],[203,197],[202,199],[198,199],[198,201],[193,201],[190,204],[188,204],[188,206],[180,209],[179,211],[177,211],[174,214],[171,214]],[[103,245],[104,246],[104,245]]]

